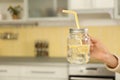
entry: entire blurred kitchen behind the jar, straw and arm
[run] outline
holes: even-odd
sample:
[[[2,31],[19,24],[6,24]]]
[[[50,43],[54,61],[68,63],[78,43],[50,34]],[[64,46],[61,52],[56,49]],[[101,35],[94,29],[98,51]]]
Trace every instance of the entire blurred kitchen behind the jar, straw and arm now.
[[[120,55],[120,0],[0,0],[0,80],[120,80],[100,61],[67,62],[76,23],[63,9],[76,11],[80,28]]]

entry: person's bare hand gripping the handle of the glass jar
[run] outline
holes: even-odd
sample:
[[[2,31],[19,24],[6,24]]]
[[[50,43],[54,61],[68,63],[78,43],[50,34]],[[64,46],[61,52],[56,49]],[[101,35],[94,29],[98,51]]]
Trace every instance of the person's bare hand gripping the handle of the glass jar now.
[[[109,50],[97,39],[90,37],[90,56],[91,58],[98,59],[104,62],[111,68],[118,65],[118,59],[109,52]]]

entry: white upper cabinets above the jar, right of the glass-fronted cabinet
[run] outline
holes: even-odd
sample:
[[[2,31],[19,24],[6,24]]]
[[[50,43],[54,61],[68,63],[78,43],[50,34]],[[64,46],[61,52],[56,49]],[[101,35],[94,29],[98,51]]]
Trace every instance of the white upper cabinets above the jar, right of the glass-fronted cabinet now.
[[[108,13],[114,17],[114,0],[69,0],[69,9],[81,13]]]

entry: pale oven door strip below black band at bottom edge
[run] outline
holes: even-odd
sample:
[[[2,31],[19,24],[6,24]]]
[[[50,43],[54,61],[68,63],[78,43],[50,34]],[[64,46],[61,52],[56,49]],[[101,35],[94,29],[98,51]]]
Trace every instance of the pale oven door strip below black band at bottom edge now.
[[[70,80],[114,80],[112,78],[70,77]]]

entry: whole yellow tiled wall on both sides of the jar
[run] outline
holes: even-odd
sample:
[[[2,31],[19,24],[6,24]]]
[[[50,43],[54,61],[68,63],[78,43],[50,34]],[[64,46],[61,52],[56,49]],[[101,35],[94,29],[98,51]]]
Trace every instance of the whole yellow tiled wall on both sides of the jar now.
[[[89,26],[89,34],[100,39],[112,53],[120,54],[120,26]],[[66,57],[69,27],[1,27],[0,33],[18,33],[16,40],[0,39],[0,56],[35,57],[35,41],[49,43],[50,57]]]

